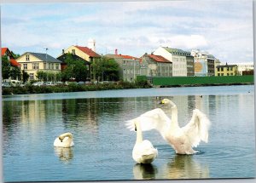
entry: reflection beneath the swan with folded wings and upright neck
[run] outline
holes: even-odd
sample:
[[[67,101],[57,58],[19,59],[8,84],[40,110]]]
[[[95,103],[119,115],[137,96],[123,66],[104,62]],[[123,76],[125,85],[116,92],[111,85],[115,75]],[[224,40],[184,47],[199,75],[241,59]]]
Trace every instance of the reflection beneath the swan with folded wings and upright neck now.
[[[135,180],[154,180],[157,168],[153,164],[137,163],[133,166]]]

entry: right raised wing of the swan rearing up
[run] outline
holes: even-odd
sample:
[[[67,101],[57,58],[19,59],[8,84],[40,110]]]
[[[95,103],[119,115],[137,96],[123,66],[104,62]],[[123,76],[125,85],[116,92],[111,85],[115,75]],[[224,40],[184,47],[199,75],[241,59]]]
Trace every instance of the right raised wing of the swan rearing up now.
[[[207,116],[198,109],[195,109],[190,122],[182,130],[189,137],[191,145],[198,146],[201,140],[208,142],[210,125],[211,123]]]

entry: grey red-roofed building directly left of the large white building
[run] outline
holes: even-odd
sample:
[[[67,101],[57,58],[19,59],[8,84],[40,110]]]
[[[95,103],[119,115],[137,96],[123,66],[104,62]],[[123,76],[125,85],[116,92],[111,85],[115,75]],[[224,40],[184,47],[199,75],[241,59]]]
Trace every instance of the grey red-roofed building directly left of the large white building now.
[[[160,55],[144,54],[140,74],[148,77],[172,77],[172,62]]]

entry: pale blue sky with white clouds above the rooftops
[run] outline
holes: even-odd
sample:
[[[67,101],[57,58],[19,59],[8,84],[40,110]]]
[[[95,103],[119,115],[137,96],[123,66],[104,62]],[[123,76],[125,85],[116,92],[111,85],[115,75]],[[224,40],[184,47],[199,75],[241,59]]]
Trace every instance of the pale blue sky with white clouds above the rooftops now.
[[[96,40],[98,54],[140,57],[160,46],[253,62],[253,1],[3,3],[2,47],[57,57]]]

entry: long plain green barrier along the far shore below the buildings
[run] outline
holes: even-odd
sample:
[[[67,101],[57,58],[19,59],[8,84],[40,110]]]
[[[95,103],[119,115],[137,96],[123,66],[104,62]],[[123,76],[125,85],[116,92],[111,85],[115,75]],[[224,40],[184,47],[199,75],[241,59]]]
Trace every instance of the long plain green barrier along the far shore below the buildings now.
[[[253,83],[253,75],[228,77],[152,77],[152,84],[154,86],[161,87],[232,85]]]

